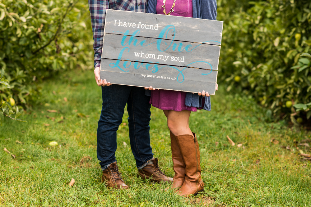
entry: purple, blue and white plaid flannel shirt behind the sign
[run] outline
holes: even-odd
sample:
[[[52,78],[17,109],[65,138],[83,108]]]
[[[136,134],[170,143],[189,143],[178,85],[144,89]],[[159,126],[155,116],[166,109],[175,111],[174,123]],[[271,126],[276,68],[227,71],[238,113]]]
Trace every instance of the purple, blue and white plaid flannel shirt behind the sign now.
[[[94,67],[100,67],[107,9],[147,11],[147,0],[89,0],[94,40]]]

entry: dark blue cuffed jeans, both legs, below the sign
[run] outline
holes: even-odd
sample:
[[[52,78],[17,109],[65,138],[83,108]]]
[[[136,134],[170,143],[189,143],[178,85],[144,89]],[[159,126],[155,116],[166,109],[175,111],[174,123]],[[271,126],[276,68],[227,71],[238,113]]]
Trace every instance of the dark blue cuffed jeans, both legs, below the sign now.
[[[128,103],[128,128],[132,153],[137,168],[153,158],[150,146],[150,97],[145,89],[135,86],[113,84],[101,87],[103,108],[97,128],[97,158],[101,169],[116,162],[117,130],[122,123],[124,108]]]

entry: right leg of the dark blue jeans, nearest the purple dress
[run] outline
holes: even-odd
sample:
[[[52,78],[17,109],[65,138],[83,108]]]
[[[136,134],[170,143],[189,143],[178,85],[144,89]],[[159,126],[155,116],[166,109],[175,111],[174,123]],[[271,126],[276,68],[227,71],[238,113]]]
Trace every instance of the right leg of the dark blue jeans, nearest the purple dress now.
[[[128,97],[128,128],[132,153],[137,168],[142,167],[153,158],[150,146],[150,97],[145,95],[145,89],[132,87]]]

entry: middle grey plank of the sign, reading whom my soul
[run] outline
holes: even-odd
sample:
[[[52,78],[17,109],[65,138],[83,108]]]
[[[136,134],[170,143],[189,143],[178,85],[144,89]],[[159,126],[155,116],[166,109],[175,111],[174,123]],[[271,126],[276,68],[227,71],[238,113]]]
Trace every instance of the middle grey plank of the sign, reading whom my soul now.
[[[104,34],[102,58],[218,70],[220,46]]]

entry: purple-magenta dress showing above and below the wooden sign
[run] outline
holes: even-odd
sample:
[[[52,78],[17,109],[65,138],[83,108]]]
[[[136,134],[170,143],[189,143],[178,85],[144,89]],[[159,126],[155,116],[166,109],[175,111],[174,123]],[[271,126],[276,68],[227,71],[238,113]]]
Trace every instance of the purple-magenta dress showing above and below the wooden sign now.
[[[165,12],[169,13],[173,6],[174,0],[166,0],[165,2]],[[164,5],[162,0],[158,0],[156,4],[156,13],[164,14],[162,6]],[[174,12],[170,15],[172,16],[185,16],[192,17],[192,0],[176,0],[175,7],[173,7]],[[162,109],[162,110],[174,110],[174,111],[197,111],[197,108],[193,106],[185,105],[186,92],[182,91],[171,91],[171,90],[155,90],[151,91],[150,102],[152,106]],[[202,99],[202,106],[204,106],[204,98]]]

